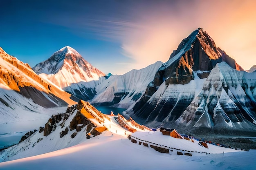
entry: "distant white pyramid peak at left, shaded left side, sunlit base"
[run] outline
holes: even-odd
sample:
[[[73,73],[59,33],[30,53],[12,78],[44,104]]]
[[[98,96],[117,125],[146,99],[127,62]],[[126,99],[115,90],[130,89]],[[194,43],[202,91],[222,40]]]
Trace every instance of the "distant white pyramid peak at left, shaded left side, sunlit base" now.
[[[56,51],[51,57],[36,64],[32,69],[60,88],[69,87],[79,82],[98,80],[99,77],[105,76],[70,46]]]

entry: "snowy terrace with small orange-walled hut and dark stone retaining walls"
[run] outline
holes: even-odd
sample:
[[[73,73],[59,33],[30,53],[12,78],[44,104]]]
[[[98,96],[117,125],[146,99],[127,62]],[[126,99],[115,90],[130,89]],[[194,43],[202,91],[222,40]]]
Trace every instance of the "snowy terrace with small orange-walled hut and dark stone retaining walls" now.
[[[207,143],[195,138],[183,137],[175,129],[168,128],[148,132],[134,132],[130,135],[130,139],[132,143],[143,144],[142,146],[170,155],[206,156],[223,152],[223,147],[213,144],[207,145]],[[225,148],[225,152],[234,152],[234,150]]]

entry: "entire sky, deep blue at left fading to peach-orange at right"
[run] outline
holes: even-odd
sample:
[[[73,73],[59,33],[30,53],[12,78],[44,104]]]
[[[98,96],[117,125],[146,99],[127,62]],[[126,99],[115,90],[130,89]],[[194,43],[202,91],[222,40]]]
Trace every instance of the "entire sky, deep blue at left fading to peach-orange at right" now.
[[[254,7],[253,0],[3,0],[0,46],[32,67],[68,45],[104,73],[124,74],[166,62],[202,27],[249,69],[256,64]]]

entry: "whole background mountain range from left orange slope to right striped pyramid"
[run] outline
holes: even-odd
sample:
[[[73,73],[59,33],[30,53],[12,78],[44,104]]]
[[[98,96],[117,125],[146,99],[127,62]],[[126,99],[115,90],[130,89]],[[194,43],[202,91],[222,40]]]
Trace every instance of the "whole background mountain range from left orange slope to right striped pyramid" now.
[[[43,107],[83,99],[126,108],[127,117],[151,127],[175,127],[191,134],[256,134],[254,67],[252,73],[245,72],[201,28],[183,39],[166,63],[124,75],[105,75],[69,46],[33,70],[0,51],[1,86]],[[3,98],[3,108],[5,102]]]

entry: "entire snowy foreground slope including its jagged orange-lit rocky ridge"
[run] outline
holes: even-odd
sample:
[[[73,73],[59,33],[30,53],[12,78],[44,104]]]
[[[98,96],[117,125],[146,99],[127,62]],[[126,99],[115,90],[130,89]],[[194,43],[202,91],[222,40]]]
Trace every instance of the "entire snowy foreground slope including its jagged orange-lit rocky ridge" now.
[[[49,126],[53,127],[50,132]],[[255,169],[255,150],[240,151],[211,144],[204,148],[196,140],[153,132],[121,115],[103,115],[83,101],[69,107],[65,114],[53,116],[45,130],[39,131],[0,152],[0,161],[5,161],[0,163],[0,169]],[[149,145],[172,149],[170,154],[160,153],[132,143],[128,135]],[[188,150],[192,156],[177,155],[177,151]]]

